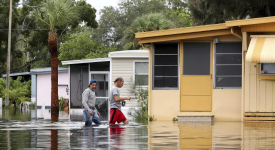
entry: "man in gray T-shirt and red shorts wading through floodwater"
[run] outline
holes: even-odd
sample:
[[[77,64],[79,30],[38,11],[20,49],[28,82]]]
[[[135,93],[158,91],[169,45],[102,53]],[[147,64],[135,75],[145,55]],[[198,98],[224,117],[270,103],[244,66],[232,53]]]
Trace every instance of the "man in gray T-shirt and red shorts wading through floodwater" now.
[[[121,101],[126,99],[131,99],[130,96],[120,97],[120,90],[123,86],[124,79],[122,77],[117,77],[114,81],[114,86],[112,86],[110,91],[110,121],[109,124],[115,124],[115,122],[128,124],[129,121],[126,119],[124,114],[121,112]]]

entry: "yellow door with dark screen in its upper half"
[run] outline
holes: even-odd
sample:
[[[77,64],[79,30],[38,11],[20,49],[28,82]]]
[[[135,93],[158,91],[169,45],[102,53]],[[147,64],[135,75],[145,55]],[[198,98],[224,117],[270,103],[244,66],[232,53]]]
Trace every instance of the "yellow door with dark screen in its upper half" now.
[[[211,111],[212,41],[182,45],[181,111]]]

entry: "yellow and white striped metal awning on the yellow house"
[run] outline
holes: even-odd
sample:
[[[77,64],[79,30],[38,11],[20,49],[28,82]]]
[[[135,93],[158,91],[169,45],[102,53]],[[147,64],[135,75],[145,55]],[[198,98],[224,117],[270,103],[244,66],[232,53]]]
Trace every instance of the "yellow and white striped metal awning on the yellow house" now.
[[[275,35],[251,35],[247,49],[246,62],[274,63]]]

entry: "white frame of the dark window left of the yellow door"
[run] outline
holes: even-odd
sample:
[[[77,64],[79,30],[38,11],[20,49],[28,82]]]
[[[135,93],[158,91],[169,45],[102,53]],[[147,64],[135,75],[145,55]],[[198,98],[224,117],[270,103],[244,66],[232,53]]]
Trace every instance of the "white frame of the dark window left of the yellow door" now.
[[[178,44],[178,87],[168,87],[168,88],[162,88],[162,87],[159,87],[159,88],[156,88],[155,87],[155,44],[159,44],[159,43],[177,43]],[[174,54],[165,54],[165,55],[174,55]],[[169,65],[165,65],[165,66],[169,66]],[[180,82],[180,75],[179,75],[179,72],[180,72],[180,42],[156,42],[156,43],[153,43],[153,66],[152,66],[152,83],[153,83],[153,86],[152,86],[152,89],[157,89],[157,90],[167,90],[167,89],[179,89],[179,82]],[[172,77],[172,76],[167,76],[167,77]],[[176,76],[173,76],[173,77],[176,77]]]

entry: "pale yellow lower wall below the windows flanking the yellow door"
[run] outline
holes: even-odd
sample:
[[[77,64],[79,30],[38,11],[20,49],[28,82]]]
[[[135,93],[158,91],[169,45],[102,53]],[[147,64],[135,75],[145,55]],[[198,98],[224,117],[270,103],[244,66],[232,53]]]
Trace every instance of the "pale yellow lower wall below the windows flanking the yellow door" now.
[[[180,90],[152,90],[151,115],[172,120],[177,115],[215,115],[215,121],[241,120],[241,89],[213,89],[212,111],[180,111]]]

